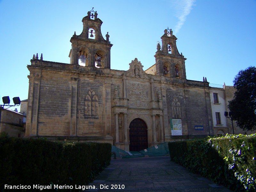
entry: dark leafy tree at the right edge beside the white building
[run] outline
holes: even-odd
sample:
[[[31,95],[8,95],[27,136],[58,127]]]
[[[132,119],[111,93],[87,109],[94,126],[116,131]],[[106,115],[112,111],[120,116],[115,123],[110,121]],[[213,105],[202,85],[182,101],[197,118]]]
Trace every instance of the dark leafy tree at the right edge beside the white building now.
[[[256,68],[239,71],[233,82],[236,92],[228,101],[232,118],[243,130],[256,130]]]

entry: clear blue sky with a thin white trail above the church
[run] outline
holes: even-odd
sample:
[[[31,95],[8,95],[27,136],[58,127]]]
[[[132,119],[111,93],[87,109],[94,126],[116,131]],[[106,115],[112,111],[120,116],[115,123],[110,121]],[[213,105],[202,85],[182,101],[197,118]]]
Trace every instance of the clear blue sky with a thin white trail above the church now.
[[[103,37],[108,32],[113,44],[112,69],[128,70],[134,58],[144,70],[154,65],[156,43],[167,27],[187,58],[189,80],[207,77],[213,84],[233,85],[239,70],[255,66],[255,0],[0,0],[0,104],[3,96],[28,98],[33,54],[70,62],[70,38],[82,32],[82,18],[92,7],[103,21]]]

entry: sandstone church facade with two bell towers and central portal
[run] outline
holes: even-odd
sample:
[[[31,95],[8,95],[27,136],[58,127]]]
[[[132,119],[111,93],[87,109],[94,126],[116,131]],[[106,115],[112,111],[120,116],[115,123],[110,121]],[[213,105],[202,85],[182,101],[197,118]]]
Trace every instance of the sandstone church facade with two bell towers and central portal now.
[[[186,78],[172,30],[156,47],[147,70],[135,58],[127,71],[110,68],[109,35],[89,11],[70,42],[70,64],[34,55],[30,72],[27,137],[108,142],[139,151],[164,141],[213,135],[209,83]],[[127,64],[128,65],[128,64]]]

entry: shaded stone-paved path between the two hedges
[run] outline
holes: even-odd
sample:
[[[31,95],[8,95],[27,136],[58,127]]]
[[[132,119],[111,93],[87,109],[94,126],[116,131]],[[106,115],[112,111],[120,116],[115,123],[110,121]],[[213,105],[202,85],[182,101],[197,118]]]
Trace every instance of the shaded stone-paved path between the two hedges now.
[[[173,163],[170,156],[112,159],[89,186],[95,189],[86,191],[231,191]]]

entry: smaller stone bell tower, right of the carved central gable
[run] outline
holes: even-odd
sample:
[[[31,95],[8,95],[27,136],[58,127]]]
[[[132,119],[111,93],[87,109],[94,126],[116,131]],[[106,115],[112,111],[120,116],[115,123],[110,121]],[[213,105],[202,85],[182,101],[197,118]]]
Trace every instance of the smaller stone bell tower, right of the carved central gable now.
[[[174,81],[185,82],[186,68],[185,60],[182,53],[180,54],[177,46],[177,38],[172,35],[172,29],[165,29],[162,39],[162,49],[161,45],[157,43],[156,51],[156,75],[164,75],[170,77]]]

